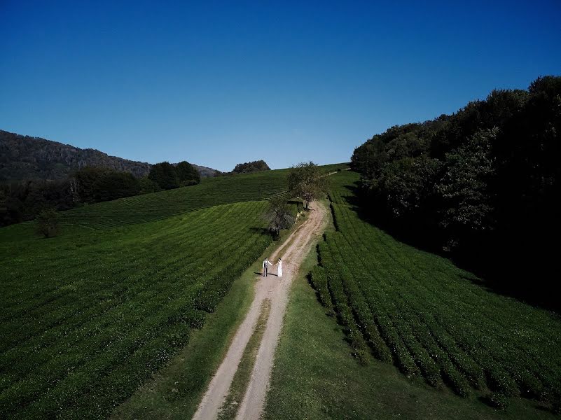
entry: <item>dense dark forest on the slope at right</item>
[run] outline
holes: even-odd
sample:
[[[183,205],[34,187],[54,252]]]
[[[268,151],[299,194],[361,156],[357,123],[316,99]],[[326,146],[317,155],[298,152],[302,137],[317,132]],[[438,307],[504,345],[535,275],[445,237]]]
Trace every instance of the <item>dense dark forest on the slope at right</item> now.
[[[561,77],[494,90],[355,149],[369,216],[495,286],[550,304],[560,235]]]

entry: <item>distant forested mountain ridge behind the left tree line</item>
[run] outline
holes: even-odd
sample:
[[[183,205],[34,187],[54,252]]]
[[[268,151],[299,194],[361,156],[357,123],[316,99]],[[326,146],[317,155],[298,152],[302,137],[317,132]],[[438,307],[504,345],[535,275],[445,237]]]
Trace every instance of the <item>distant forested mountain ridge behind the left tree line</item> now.
[[[106,167],[144,176],[150,172],[151,164],[0,130],[0,181],[64,179],[74,169],[85,166]],[[216,169],[193,166],[203,177],[216,174]]]

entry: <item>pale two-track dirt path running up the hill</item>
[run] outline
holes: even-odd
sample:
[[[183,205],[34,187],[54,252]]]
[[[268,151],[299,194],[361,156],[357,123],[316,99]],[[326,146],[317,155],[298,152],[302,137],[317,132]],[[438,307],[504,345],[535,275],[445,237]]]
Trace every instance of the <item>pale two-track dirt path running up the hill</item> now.
[[[324,232],[327,221],[328,210],[325,205],[314,202],[308,218],[271,255],[271,261],[282,258],[284,276],[279,278],[269,275],[258,279],[254,301],[251,303],[242,325],[238,328],[226,357],[212,378],[193,420],[216,419],[218,416],[245,346],[254,331],[261,303],[268,298],[271,300],[271,309],[267,326],[256,356],[254,370],[251,372],[247,392],[236,417],[244,420],[259,418],[269,388],[273,357],[282,328],[292,278],[298,273],[300,264],[310,252],[314,239]],[[283,254],[278,255],[279,251],[282,251]]]

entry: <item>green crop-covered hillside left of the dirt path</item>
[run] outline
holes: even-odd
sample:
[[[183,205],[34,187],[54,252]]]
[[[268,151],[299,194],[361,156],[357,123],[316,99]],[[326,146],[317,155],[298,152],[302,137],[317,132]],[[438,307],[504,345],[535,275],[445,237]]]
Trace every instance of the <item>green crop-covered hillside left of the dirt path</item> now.
[[[2,416],[108,416],[271,243],[261,215],[275,194],[286,170],[67,211],[55,238],[0,229]]]

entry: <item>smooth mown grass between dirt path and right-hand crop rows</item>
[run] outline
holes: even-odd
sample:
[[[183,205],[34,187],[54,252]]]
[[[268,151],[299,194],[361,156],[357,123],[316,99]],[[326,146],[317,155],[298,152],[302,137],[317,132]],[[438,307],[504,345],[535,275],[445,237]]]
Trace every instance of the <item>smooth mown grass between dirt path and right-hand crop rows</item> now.
[[[378,360],[361,365],[351,356],[342,327],[317,301],[305,278],[317,264],[308,255],[294,279],[263,419],[555,419],[527,400],[506,412],[478,395],[459,398],[444,388],[408,379]]]

